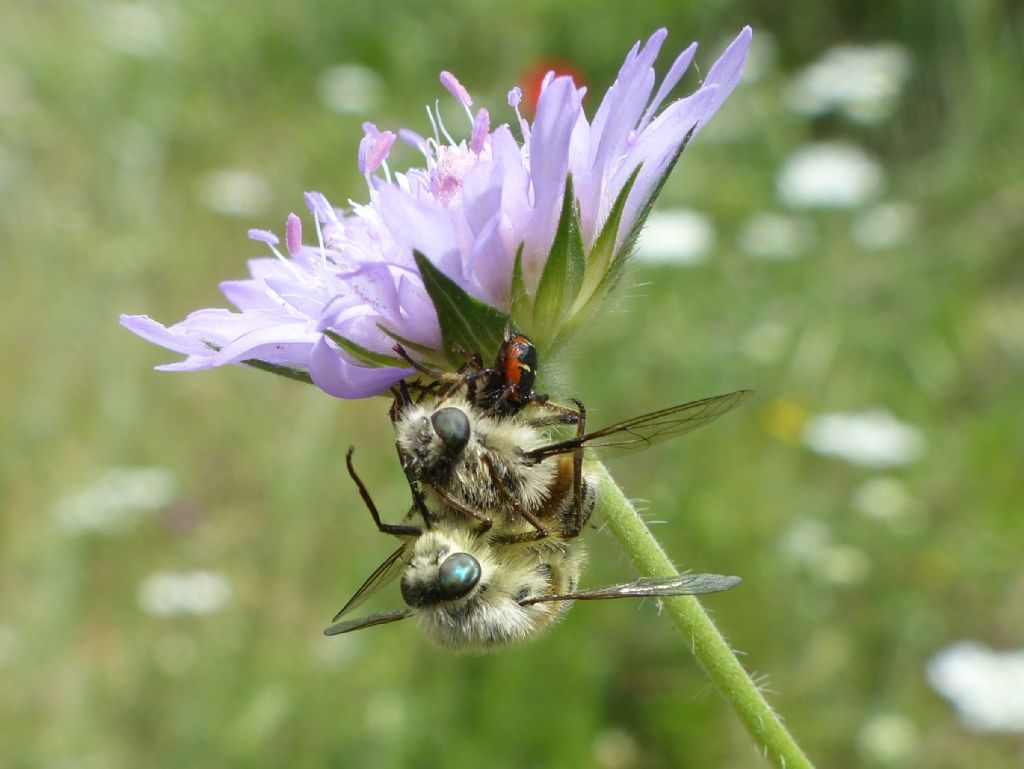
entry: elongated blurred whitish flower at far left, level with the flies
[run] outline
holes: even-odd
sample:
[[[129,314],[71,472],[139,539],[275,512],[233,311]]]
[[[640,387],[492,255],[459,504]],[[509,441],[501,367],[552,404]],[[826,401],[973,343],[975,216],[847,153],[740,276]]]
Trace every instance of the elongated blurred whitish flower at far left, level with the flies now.
[[[112,467],[92,485],[58,500],[51,514],[72,533],[114,531],[167,507],[177,495],[177,478],[167,468]]]

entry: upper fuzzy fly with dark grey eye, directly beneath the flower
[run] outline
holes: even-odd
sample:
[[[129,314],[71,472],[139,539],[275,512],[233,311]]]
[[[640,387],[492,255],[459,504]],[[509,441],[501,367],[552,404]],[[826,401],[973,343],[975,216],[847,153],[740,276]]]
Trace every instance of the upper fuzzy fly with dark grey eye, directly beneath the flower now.
[[[431,509],[458,510],[489,528],[532,530],[518,536],[543,539],[552,526],[580,533],[584,501],[592,494],[585,477],[585,452],[607,457],[684,435],[745,402],[737,390],[663,409],[586,432],[586,410],[554,407],[501,417],[461,395],[414,401],[399,390],[391,411],[398,456],[407,475],[422,484]],[[549,429],[574,424],[575,435],[553,440]],[[591,490],[588,490],[591,489]]]

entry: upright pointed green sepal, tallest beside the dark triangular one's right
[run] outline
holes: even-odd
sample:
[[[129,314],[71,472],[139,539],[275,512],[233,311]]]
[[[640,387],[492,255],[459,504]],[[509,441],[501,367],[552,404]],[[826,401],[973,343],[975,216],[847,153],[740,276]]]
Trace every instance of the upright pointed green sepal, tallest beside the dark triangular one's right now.
[[[572,174],[565,177],[562,211],[544,271],[534,298],[535,336],[549,339],[580,293],[587,268],[580,224],[580,206],[572,188]]]

